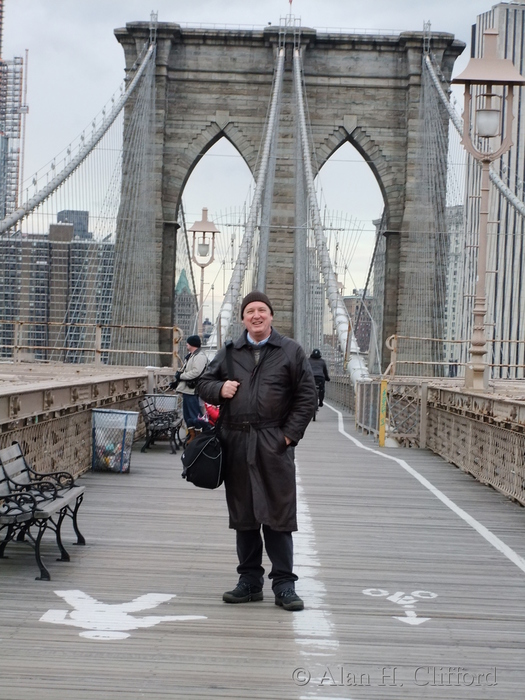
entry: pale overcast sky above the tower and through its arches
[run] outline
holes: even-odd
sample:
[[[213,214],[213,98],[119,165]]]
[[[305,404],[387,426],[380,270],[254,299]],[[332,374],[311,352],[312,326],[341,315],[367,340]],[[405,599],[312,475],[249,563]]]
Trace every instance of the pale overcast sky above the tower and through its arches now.
[[[423,22],[430,21],[433,31],[450,32],[467,44],[457,62],[461,70],[468,60],[471,25],[494,4],[293,0],[291,11],[303,26],[320,30],[421,31]],[[159,22],[262,27],[278,24],[290,12],[290,4],[288,0],[4,0],[3,58],[24,56],[29,50],[26,177],[78,136],[117,90],[124,76],[124,55],[113,30],[127,22],[149,20],[152,10],[158,12]],[[326,166],[323,188],[329,207],[348,211],[368,222],[365,228],[370,229],[370,221],[381,214],[382,202],[367,166],[350,162],[355,161],[354,153],[341,149],[335,159],[344,162]],[[241,205],[246,198],[249,175],[240,157],[232,158],[227,147],[212,155],[210,167],[197,168],[186,188],[188,220],[203,206],[212,212]],[[224,193],[219,183],[224,181],[225,166],[231,179]]]

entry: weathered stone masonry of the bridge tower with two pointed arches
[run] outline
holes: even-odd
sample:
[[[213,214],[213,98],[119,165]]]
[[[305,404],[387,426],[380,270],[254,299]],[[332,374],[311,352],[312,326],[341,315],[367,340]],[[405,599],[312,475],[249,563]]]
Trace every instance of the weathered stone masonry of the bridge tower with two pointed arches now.
[[[146,22],[115,30],[129,69],[149,35]],[[163,241],[157,288],[159,325],[171,325],[176,221],[186,181],[221,137],[238,149],[254,176],[270,101],[279,28],[260,31],[157,30],[157,236]],[[423,33],[375,36],[301,29],[303,65],[314,141],[323,163],[346,141],[368,162],[383,194],[387,220],[384,337],[410,314],[405,277],[417,250],[404,245],[413,218]],[[293,37],[287,42],[266,291],[275,322],[293,336],[295,128]],[[431,49],[449,79],[464,44],[434,33]],[[349,186],[351,184],[349,183]],[[433,271],[429,270],[429,275]],[[433,285],[429,285],[432,289]],[[139,300],[137,300],[138,302]],[[431,305],[429,305],[431,306]],[[424,320],[424,319],[423,319]],[[429,319],[429,330],[432,319]],[[163,344],[161,338],[161,345]],[[161,348],[162,349],[162,348]]]

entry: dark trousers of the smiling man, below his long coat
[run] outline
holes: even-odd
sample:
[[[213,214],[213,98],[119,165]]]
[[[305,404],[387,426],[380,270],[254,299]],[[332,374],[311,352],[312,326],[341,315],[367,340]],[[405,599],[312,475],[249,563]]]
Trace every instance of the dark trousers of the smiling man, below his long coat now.
[[[292,533],[272,530],[267,525],[262,526],[262,532],[266,553],[272,563],[272,570],[268,578],[272,581],[273,592],[277,594],[286,588],[294,588],[297,576],[293,573]],[[262,546],[260,528],[257,530],[237,530],[239,581],[245,581],[261,588],[264,583]]]

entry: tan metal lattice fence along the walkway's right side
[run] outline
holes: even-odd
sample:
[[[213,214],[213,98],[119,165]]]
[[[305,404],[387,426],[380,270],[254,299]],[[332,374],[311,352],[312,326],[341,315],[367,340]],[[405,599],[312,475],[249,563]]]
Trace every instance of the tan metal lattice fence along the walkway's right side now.
[[[496,386],[496,389],[499,387]],[[525,505],[525,403],[413,378],[359,383],[356,426],[381,446],[427,447]]]

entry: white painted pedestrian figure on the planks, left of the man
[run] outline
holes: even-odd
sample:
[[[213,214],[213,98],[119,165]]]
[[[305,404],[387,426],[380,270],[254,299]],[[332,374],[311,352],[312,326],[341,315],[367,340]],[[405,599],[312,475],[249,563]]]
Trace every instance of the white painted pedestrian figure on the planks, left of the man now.
[[[175,598],[164,593],[147,593],[130,601],[110,605],[101,603],[82,591],[55,591],[73,610],[48,610],[40,622],[52,622],[56,625],[82,627],[87,632],[80,632],[81,637],[89,639],[126,639],[129,631],[140,627],[153,627],[160,622],[184,622],[186,620],[206,620],[203,615],[147,615],[135,617],[134,612],[151,610],[161,603]]]

